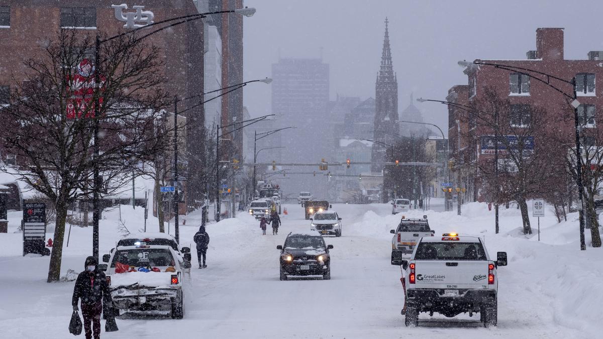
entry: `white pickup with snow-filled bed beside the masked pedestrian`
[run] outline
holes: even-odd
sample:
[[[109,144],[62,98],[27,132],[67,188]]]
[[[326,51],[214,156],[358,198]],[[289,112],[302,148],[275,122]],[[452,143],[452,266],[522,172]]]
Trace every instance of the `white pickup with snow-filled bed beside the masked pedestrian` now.
[[[113,314],[119,311],[184,315],[183,275],[191,262],[182,261],[171,246],[118,246],[104,255]]]

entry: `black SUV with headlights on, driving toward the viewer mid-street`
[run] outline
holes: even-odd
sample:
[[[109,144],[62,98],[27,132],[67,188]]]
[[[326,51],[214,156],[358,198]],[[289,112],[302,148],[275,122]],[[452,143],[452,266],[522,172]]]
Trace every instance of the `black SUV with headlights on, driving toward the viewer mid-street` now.
[[[324,244],[320,233],[291,232],[280,250],[280,280],[287,276],[323,276],[331,279],[331,260],[329,250],[333,245]]]

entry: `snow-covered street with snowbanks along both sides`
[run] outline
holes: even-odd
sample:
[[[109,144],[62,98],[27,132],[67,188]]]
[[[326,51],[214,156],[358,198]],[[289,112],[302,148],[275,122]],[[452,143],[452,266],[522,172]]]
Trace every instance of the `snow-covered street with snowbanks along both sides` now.
[[[438,208],[432,204],[432,208]],[[185,318],[118,318],[119,331],[104,338],[392,338],[408,334],[431,337],[587,338],[595,335],[600,315],[592,312],[603,302],[601,250],[579,251],[575,215],[553,227],[552,217],[541,219],[541,242],[517,233],[519,211],[502,209],[501,233],[493,234],[493,214],[485,204],[455,212],[428,211],[436,233],[458,231],[485,237],[490,253],[506,250],[509,265],[499,269],[499,325],[484,329],[479,316],[446,318],[420,314],[418,328],[406,328],[400,268],[390,265],[389,230],[400,215],[387,204],[334,205],[343,217],[343,236],[327,238],[335,248],[332,279],[279,280],[276,246],[291,230],[309,229],[303,210],[286,205],[279,235],[261,234],[248,214],[209,224],[208,268],[197,267],[193,253],[192,283],[185,294]],[[441,210],[441,209],[440,209]],[[11,214],[14,231],[18,212]],[[101,253],[115,244],[116,210],[101,223]],[[421,217],[411,211],[408,217]],[[130,228],[140,227],[142,209],[122,206]],[[192,242],[198,215],[181,226],[183,246]],[[535,221],[535,220],[534,220]],[[534,223],[535,224],[535,223]],[[156,220],[149,220],[154,230]],[[534,227],[535,229],[535,227]],[[12,231],[11,231],[12,232]],[[173,233],[173,230],[172,230]],[[269,232],[270,233],[270,232]],[[90,229],[73,227],[65,248],[62,275],[69,268],[83,270],[90,253]],[[587,238],[588,239],[588,238]],[[22,257],[21,233],[0,237],[0,332],[6,338],[65,338],[71,315],[74,282],[46,284],[48,257]],[[193,247],[194,252],[194,247]],[[104,330],[103,330],[104,331]]]

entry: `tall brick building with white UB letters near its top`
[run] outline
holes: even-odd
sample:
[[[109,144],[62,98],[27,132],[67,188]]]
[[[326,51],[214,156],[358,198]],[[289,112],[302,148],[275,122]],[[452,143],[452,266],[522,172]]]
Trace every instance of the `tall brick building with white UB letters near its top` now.
[[[100,34],[101,37],[114,36],[127,30],[125,22],[117,19],[118,13],[112,8],[113,4],[115,1],[109,0],[0,0],[0,92],[11,90],[13,81],[20,81],[26,70],[24,60],[38,57],[42,53],[40,43],[55,40],[60,28],[72,28],[81,34]],[[135,4],[144,6],[144,11],[151,11],[154,22],[198,13],[193,1],[139,0]],[[131,5],[134,4],[122,12],[136,11]],[[150,31],[142,30],[139,34],[148,34]],[[145,43],[160,48],[160,57],[165,60],[163,73],[167,80],[166,90],[180,98],[204,92],[201,21],[191,21],[160,31],[145,39]],[[187,109],[189,104],[182,102],[178,109]],[[204,125],[203,107],[188,110],[186,118],[187,148],[203,150],[203,139],[200,138]],[[193,151],[187,159],[184,150],[182,153],[180,159],[186,162],[181,163],[181,180],[189,180],[185,187],[190,187],[191,179],[198,178],[189,177],[185,163],[188,168],[195,168],[201,154],[194,154]],[[11,161],[18,162],[18,159]]]

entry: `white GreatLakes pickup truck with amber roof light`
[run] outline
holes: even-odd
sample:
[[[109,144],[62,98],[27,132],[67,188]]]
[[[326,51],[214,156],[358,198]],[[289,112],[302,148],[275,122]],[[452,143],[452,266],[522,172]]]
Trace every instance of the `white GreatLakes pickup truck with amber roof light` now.
[[[454,317],[479,312],[485,327],[497,325],[497,267],[507,265],[507,252],[490,258],[475,236],[446,233],[421,238],[409,260],[396,260],[405,270],[406,326],[418,325],[420,312]]]

